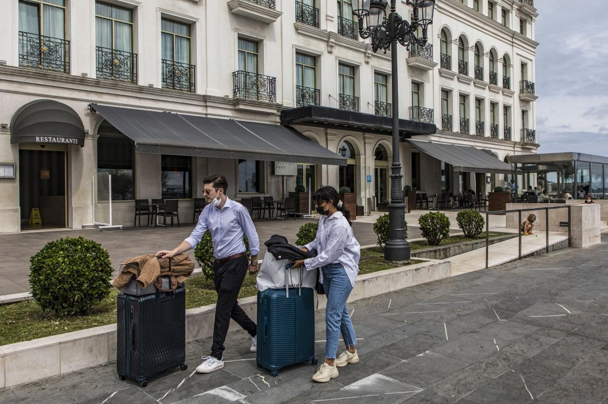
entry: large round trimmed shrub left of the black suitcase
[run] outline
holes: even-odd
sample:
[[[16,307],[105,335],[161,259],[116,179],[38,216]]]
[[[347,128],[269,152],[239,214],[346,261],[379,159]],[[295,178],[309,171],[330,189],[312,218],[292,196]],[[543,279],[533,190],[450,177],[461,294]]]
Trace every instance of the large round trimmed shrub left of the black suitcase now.
[[[58,316],[85,314],[108,296],[111,275],[108,251],[83,237],[47,242],[30,258],[32,297]]]

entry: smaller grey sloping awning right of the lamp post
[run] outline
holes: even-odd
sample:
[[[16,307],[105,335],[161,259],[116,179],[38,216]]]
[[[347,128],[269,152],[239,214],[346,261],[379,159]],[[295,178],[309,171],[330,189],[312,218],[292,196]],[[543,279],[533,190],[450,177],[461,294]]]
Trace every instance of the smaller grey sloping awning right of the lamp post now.
[[[447,145],[446,143],[412,139],[408,139],[407,142],[429,156],[454,166],[454,171],[502,174],[513,169],[510,164],[472,146]]]

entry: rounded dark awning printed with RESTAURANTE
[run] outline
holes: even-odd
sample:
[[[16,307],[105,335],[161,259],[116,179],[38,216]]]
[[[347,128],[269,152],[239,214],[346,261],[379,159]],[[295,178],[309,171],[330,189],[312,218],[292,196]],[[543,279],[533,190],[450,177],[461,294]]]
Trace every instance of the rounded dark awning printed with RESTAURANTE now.
[[[85,127],[74,109],[54,100],[25,104],[10,122],[11,143],[85,145]]]

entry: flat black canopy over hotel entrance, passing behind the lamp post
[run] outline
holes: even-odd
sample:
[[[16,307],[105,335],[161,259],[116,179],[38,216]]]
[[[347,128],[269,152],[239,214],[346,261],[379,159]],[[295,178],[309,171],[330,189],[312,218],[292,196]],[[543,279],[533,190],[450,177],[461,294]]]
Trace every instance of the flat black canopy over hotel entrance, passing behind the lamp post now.
[[[390,135],[393,128],[393,120],[390,117],[316,105],[285,109],[281,112],[281,124],[320,126],[383,135]],[[403,138],[412,135],[431,135],[435,132],[437,126],[430,123],[399,120],[399,134]]]

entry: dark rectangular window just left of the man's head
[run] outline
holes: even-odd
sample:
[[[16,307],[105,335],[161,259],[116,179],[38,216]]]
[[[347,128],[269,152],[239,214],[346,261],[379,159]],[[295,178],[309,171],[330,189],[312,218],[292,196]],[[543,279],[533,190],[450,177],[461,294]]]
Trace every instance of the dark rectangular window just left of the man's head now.
[[[192,197],[192,157],[161,156],[162,199]]]

